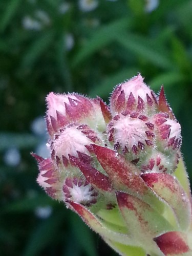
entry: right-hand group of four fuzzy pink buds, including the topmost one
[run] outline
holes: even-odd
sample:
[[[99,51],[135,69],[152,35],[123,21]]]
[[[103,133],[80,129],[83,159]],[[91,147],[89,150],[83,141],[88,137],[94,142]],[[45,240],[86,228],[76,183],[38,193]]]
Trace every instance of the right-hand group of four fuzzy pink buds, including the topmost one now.
[[[117,86],[110,98],[108,138],[117,152],[145,172],[172,173],[177,166],[181,126],[166,101],[155,95],[139,74]],[[158,160],[157,160],[157,159]],[[154,162],[154,164],[152,164]]]

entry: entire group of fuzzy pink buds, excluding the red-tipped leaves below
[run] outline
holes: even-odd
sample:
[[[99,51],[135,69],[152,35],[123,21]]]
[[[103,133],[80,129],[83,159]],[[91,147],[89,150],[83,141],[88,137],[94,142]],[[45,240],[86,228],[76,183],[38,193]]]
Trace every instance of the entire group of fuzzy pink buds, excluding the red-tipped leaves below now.
[[[72,199],[91,205],[97,200],[91,196],[92,189],[96,189],[94,195],[102,194],[98,184],[89,184],[78,163],[97,167],[101,174],[106,174],[94,156],[92,144],[122,154],[143,173],[172,173],[177,166],[180,124],[166,101],[158,99],[140,74],[115,88],[110,108],[100,98],[89,99],[76,93],[50,93],[47,105],[51,158],[34,155],[40,170],[37,182],[58,200]],[[162,111],[162,105],[169,112]],[[77,200],[77,194],[81,199]]]

